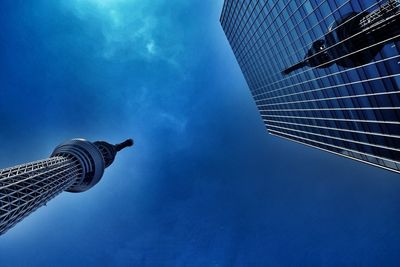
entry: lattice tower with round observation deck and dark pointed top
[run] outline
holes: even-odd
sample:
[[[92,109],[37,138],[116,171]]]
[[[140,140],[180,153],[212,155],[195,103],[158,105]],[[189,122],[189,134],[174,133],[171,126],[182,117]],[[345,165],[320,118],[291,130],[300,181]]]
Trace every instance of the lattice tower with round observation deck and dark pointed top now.
[[[0,170],[0,235],[59,193],[92,188],[117,152],[132,145],[73,139],[48,159]]]

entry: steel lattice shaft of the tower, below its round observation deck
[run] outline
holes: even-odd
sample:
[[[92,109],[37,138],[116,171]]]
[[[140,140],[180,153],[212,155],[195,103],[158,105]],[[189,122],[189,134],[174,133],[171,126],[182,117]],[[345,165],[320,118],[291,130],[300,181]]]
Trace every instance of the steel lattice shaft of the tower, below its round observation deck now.
[[[73,185],[81,173],[70,156],[0,170],[0,234]]]

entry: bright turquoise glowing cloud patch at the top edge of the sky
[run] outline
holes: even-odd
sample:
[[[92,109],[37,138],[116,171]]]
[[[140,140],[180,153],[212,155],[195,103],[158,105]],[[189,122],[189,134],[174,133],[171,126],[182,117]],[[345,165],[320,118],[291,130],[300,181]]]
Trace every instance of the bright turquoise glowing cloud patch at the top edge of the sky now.
[[[174,16],[163,13],[163,5],[154,1],[65,0],[64,6],[101,32],[98,51],[104,59],[158,60],[177,66],[182,46],[171,34]]]

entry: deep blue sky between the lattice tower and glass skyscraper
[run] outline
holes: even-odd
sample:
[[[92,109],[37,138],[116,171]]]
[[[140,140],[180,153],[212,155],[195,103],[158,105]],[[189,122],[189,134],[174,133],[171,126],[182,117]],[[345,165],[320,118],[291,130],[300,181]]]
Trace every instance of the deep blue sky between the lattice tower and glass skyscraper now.
[[[267,135],[222,1],[2,1],[0,163],[132,137],[0,266],[395,266],[398,175]]]

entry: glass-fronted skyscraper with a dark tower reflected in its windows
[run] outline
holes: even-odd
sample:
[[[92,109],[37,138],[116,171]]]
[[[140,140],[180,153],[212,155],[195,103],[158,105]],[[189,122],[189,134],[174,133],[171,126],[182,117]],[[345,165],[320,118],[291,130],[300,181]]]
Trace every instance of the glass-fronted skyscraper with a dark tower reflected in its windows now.
[[[272,135],[400,172],[400,0],[225,0]]]

